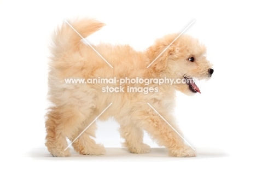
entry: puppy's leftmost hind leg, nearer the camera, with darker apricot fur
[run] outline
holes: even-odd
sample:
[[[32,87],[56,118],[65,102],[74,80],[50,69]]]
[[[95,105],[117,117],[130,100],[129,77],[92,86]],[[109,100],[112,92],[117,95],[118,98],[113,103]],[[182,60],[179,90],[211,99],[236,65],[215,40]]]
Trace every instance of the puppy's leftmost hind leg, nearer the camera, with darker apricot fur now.
[[[50,109],[47,114],[48,119],[45,122],[47,132],[45,145],[53,156],[65,157],[70,155],[66,137],[71,138],[73,134],[77,133],[86,116],[88,115],[81,113],[79,108],[72,105]]]

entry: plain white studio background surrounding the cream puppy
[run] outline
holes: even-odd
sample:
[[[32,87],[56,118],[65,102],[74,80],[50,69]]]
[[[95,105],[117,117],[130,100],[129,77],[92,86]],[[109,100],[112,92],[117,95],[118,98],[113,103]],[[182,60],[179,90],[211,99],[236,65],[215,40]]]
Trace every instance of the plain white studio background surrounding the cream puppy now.
[[[207,46],[214,74],[211,80],[197,83],[201,95],[177,93],[175,115],[191,145],[221,150],[229,159],[182,164],[200,164],[200,168],[219,161],[226,167],[255,167],[251,161],[256,151],[256,25],[255,5],[249,2],[0,1],[1,160],[47,167],[47,160],[25,154],[35,148],[46,150],[50,36],[65,19],[94,17],[106,26],[88,37],[89,42],[130,44],[136,50],[146,49],[165,34],[183,31],[195,20],[185,33]],[[97,142],[120,147],[117,130],[113,121],[99,122]],[[145,142],[157,147],[148,136]],[[172,162],[165,163],[171,167]]]

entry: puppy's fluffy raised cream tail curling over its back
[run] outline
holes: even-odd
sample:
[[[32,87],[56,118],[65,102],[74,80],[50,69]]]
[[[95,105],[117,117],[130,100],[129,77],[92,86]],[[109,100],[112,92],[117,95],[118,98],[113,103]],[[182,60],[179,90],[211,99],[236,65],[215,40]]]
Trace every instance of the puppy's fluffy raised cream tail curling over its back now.
[[[94,19],[65,21],[53,36],[54,46],[51,50],[56,54],[64,51],[78,50],[80,40],[100,30],[104,24]],[[74,29],[73,29],[73,28]],[[80,37],[79,36],[82,36]]]

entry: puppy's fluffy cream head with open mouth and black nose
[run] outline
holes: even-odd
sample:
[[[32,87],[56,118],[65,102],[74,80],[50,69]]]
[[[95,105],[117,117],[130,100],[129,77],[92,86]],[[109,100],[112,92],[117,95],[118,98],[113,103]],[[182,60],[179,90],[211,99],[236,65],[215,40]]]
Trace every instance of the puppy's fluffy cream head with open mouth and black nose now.
[[[188,35],[177,37],[178,34],[170,34],[156,40],[147,51],[152,61],[158,57],[150,67],[159,77],[174,79],[176,90],[187,95],[200,92],[193,79],[209,79],[213,74],[206,48]]]

